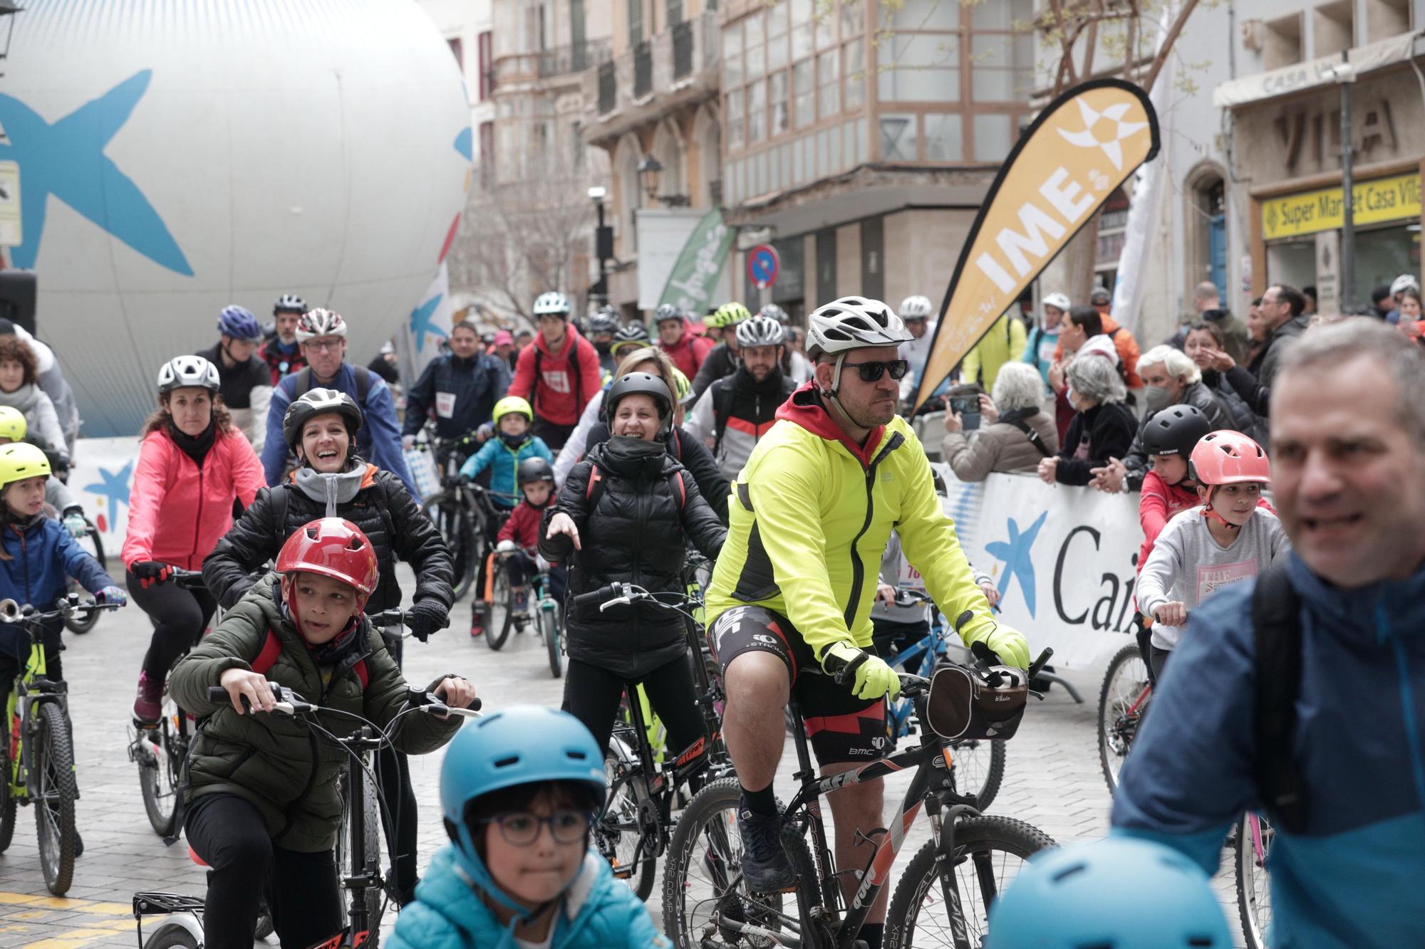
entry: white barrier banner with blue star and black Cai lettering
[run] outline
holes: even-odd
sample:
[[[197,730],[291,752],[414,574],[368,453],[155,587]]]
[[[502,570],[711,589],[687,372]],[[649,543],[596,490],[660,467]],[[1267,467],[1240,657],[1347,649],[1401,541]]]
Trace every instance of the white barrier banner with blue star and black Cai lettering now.
[[[970,563],[999,587],[1000,616],[1057,668],[1107,663],[1133,630],[1133,584],[1143,531],[1137,494],[1049,486],[1023,474],[983,484],[953,480],[949,499]],[[976,502],[979,502],[976,504]]]

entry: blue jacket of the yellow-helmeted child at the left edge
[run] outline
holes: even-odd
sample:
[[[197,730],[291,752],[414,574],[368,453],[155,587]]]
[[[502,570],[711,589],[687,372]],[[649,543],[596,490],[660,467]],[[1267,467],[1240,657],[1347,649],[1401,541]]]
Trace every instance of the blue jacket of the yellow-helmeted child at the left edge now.
[[[36,514],[28,522],[17,523],[7,516],[0,526],[0,543],[10,557],[0,560],[0,598],[20,606],[28,603],[43,613],[53,610],[54,601],[68,591],[68,577],[78,580],[90,593],[115,586],[98,561],[53,517]],[[0,654],[17,655],[23,641],[20,630],[0,624]]]

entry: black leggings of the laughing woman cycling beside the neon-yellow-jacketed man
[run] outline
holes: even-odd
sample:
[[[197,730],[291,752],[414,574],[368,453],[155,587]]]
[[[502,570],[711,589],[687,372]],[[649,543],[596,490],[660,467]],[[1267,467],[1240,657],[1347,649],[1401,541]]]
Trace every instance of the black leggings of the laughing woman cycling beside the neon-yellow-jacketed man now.
[[[641,680],[628,680],[618,673],[590,665],[570,657],[569,673],[564,675],[564,711],[584,722],[598,742],[600,751],[608,751],[608,737],[618,714],[618,698],[626,685],[643,683],[648,704],[658,712],[668,730],[668,751],[677,754],[701,738],[703,714],[698,711],[697,687],[693,684],[693,667],[688,657],[660,665]],[[633,700],[630,700],[633,701]]]

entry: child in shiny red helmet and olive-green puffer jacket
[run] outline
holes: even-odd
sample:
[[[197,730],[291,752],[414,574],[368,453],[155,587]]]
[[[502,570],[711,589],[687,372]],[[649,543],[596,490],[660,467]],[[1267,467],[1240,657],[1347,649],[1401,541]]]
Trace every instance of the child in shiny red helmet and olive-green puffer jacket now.
[[[379,576],[370,540],[355,524],[314,520],[282,544],[276,576],[248,590],[168,678],[174,700],[204,718],[188,759],[184,831],[212,868],[208,949],[252,948],[264,892],[284,946],[342,929],[332,851],[346,752],[326,734],[351,734],[358,717],[385,728],[406,700],[400,668],[362,616]],[[252,714],[274,710],[268,680],[321,704],[316,722]],[[228,701],[208,698],[214,685]],[[475,698],[456,675],[430,690],[449,705]],[[455,717],[408,715],[393,744],[425,754],[457,728]]]

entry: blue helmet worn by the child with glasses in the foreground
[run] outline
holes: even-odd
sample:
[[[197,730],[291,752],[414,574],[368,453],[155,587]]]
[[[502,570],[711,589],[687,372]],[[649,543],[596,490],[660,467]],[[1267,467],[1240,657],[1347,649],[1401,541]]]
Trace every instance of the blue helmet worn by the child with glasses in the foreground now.
[[[594,737],[569,712],[540,705],[512,705],[466,725],[440,765],[440,808],[446,831],[455,838],[456,862],[470,882],[517,913],[529,911],[494,883],[475,849],[465,809],[492,791],[539,781],[589,785],[598,807],[608,794],[604,757]]]

